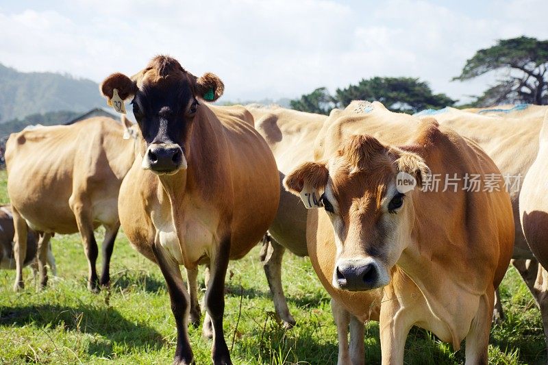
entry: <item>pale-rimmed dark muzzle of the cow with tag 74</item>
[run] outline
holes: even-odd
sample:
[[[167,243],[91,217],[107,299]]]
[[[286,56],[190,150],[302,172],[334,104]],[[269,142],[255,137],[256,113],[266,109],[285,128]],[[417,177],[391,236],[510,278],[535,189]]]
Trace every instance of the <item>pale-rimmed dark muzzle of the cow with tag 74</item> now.
[[[390,282],[384,268],[373,257],[341,259],[333,273],[334,288],[360,291],[381,288]]]

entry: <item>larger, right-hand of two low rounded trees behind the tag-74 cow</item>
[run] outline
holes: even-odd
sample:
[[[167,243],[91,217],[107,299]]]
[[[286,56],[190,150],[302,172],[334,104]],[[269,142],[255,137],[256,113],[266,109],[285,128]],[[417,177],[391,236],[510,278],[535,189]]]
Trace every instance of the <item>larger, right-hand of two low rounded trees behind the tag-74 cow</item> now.
[[[344,107],[353,100],[380,101],[393,112],[419,112],[451,106],[456,100],[445,94],[433,94],[425,81],[414,77],[372,77],[358,85],[337,89],[335,99]]]

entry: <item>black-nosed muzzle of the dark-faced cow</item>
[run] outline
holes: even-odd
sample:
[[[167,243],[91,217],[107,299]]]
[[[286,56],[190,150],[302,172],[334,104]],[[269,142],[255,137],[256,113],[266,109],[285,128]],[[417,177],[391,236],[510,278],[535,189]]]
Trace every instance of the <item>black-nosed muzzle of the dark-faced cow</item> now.
[[[178,144],[150,144],[142,158],[142,168],[157,175],[173,175],[187,168],[186,158]]]

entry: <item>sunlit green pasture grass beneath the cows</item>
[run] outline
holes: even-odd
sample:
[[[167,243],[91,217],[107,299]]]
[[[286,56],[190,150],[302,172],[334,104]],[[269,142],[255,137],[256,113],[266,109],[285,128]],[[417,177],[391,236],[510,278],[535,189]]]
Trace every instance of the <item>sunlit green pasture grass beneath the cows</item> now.
[[[5,173],[0,173],[0,201],[8,201]],[[112,288],[92,294],[86,289],[79,236],[57,235],[52,244],[59,279],[50,279],[46,290],[36,292],[25,268],[26,288],[15,293],[14,272],[0,271],[0,363],[171,363],[176,331],[160,270],[120,234],[112,255]],[[229,347],[234,338],[234,364],[335,364],[337,338],[329,297],[310,261],[290,254],[284,260],[284,289],[297,320],[286,331],[273,314],[258,251],[229,265],[225,332]],[[203,288],[203,277],[199,280]],[[501,294],[506,321],[491,331],[490,362],[546,364],[540,314],[515,270],[508,270]],[[190,328],[190,342],[197,364],[209,364],[211,342],[201,338],[200,329]],[[377,323],[366,325],[364,342],[366,362],[378,364]],[[464,348],[453,352],[451,345],[423,329],[410,332],[406,364],[463,362]]]

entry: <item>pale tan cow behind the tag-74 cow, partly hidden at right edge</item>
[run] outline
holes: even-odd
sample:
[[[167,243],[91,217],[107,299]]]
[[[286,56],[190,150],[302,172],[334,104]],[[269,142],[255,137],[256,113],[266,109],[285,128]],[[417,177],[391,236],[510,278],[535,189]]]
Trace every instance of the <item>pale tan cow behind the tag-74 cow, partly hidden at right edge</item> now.
[[[434,112],[434,116],[440,124],[447,125],[460,135],[477,142],[497,164],[502,178],[508,182],[516,227],[512,264],[523,277],[540,308],[545,338],[548,340],[548,283],[543,280],[545,270],[538,265],[533,253],[540,260],[543,260],[543,256],[535,251],[531,252],[530,245],[527,245],[520,222],[520,218],[523,218],[520,214],[523,203],[519,202],[525,181],[535,181],[534,184],[537,184],[536,177],[529,177],[529,171],[539,151],[538,136],[547,110],[546,106],[540,105],[517,105],[513,108],[505,105],[475,110],[475,113],[445,108]],[[497,300],[495,318],[501,313],[500,301]]]

